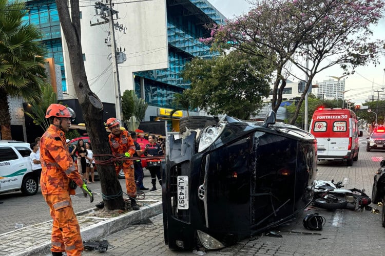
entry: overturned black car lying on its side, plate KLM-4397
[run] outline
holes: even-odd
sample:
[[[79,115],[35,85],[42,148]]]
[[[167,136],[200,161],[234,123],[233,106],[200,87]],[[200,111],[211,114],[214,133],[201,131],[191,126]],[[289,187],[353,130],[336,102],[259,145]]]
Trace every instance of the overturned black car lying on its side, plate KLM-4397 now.
[[[316,139],[293,125],[225,116],[166,139],[165,243],[220,249],[272,229],[313,199]]]

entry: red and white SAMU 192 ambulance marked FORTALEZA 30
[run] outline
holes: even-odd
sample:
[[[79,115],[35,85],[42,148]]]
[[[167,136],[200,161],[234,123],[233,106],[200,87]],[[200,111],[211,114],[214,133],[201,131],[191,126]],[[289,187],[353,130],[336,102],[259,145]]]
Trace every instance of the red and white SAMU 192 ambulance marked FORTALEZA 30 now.
[[[358,130],[353,111],[318,108],[309,132],[317,139],[318,160],[347,160],[348,166],[358,160],[358,137],[362,137],[362,131]]]

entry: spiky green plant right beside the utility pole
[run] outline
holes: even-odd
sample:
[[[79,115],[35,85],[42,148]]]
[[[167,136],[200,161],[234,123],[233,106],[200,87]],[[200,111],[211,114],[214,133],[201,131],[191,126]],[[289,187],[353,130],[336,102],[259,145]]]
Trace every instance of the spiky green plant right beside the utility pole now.
[[[148,103],[144,99],[139,98],[134,90],[124,91],[122,97],[123,118],[129,131],[138,129],[147,108]]]

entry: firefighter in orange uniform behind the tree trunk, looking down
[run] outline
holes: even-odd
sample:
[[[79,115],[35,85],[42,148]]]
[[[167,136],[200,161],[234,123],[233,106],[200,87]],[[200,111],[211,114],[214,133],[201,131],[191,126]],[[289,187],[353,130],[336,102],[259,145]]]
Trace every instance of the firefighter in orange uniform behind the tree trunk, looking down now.
[[[111,151],[114,156],[126,156],[130,157],[136,152],[136,147],[133,143],[133,139],[127,131],[120,129],[120,120],[114,117],[108,118],[107,127],[111,131],[108,135],[108,141],[110,143]],[[137,196],[137,187],[134,179],[134,167],[132,161],[122,161],[115,163],[115,171],[117,175],[123,169],[124,176],[126,178],[127,194],[130,197],[131,207],[133,210],[139,210],[139,206],[135,200]]]

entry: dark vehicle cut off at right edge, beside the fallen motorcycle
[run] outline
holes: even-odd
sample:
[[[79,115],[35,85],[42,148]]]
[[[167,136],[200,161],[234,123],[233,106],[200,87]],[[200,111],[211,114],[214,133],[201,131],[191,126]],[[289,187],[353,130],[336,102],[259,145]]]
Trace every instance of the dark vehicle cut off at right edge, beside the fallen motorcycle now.
[[[382,202],[381,222],[382,226],[385,227],[385,160],[381,161],[374,176],[372,201],[375,204]]]

